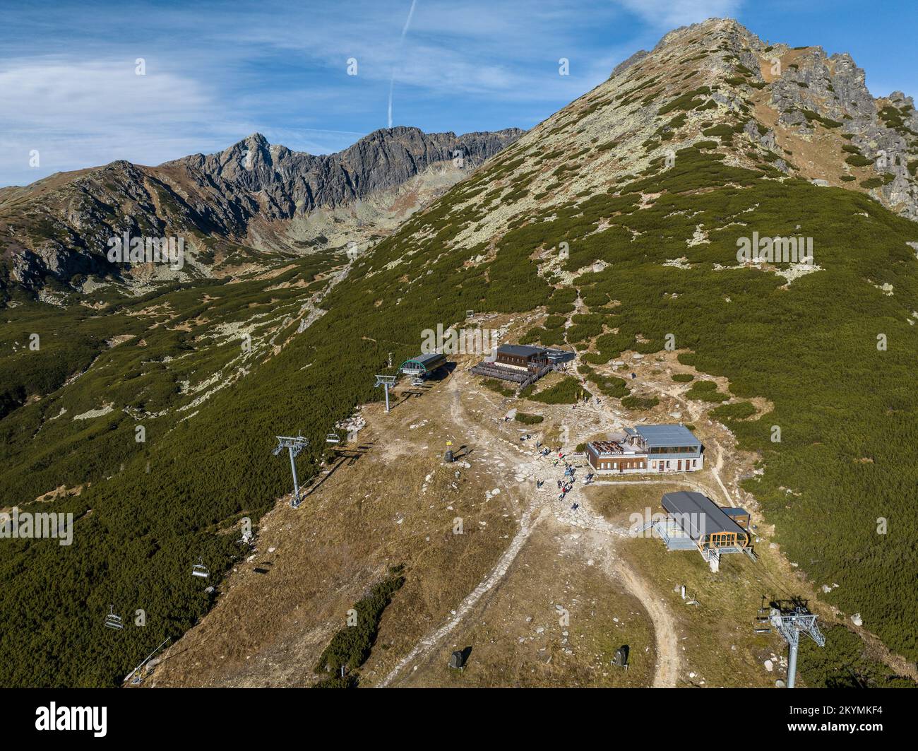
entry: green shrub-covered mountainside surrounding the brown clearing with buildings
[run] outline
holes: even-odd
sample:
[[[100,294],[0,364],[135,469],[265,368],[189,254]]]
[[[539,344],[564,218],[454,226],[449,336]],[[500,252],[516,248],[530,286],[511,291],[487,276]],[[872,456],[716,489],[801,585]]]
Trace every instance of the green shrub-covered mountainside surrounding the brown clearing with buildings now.
[[[698,101],[689,105],[707,107],[703,93]],[[554,173],[559,182],[586,169],[608,145],[595,143],[593,154],[562,153]],[[12,436],[14,453],[5,465],[13,462],[15,471],[5,473],[6,498],[25,501],[61,483],[96,481],[79,497],[54,504],[78,515],[92,509],[77,522],[72,548],[9,541],[0,548],[0,572],[5,580],[17,577],[16,588],[0,592],[0,613],[10,626],[0,635],[0,649],[10,656],[0,681],[117,681],[163,635],[180,633],[207,609],[200,582],[189,576],[191,563],[203,555],[213,570],[224,570],[238,555],[235,535],[216,532],[243,513],[257,518],[287,491],[285,462],[270,455],[274,434],[303,428],[312,439],[314,448],[299,460],[308,476],[333,421],[378,398],[373,375],[383,372],[387,353],[395,362],[417,353],[421,331],[465,320],[469,308],[546,306],[564,315],[578,294],[588,308],[579,315],[589,317],[575,321],[571,338],[557,325],[545,331],[558,343],[589,346],[594,364],[625,349],[657,352],[672,333],[677,347],[691,352],[684,357],[728,377],[735,395],[774,403],[763,419],[733,425],[744,448],[760,451],[765,461],[765,474],[748,489],[777,525],[790,559],[817,582],[840,585],[828,599],[860,611],[893,650],[918,655],[911,625],[918,595],[901,576],[915,563],[918,469],[907,447],[915,444],[916,397],[909,386],[918,331],[907,319],[918,309],[918,264],[905,243],[918,239],[918,227],[862,194],[780,178],[765,163],[758,171],[727,166],[710,151],[678,151],[672,169],[651,165],[621,179],[613,193],[564,201],[545,191],[543,207],[508,219],[493,245],[456,241],[527,196],[533,165],[558,160],[538,139],[526,138],[356,263],[323,303],[330,312],[280,353],[252,363],[252,375],[219,391],[192,420],[148,437],[145,446],[131,443],[132,422],[109,431],[104,418],[84,426],[87,433],[71,427],[57,439],[61,451],[42,460],[50,465],[54,458],[54,467],[36,468],[34,443],[23,438],[29,420],[39,424],[31,410],[53,415],[57,405],[43,400],[8,416],[0,426]],[[654,193],[662,195],[638,208],[643,194]],[[688,246],[699,224],[710,229],[710,242]],[[716,270],[715,264],[735,263],[736,238],[753,230],[813,237],[822,270],[790,286],[761,270]],[[570,244],[568,273],[595,261],[610,265],[572,284],[563,276],[550,284],[532,253],[560,241]],[[476,262],[488,253],[486,262]],[[681,256],[691,268],[662,265]],[[884,283],[894,295],[879,290]],[[610,300],[621,304],[610,307]],[[191,305],[185,300],[182,307]],[[96,338],[123,332],[86,331]],[[889,338],[886,352],[877,350],[878,333]],[[176,337],[163,340],[162,353],[185,341],[175,332],[156,335]],[[109,356],[129,356],[119,349]],[[202,342],[198,349],[201,358],[224,356],[220,345]],[[75,353],[73,364],[82,357]],[[146,377],[148,359],[113,362],[107,380],[85,400],[97,407],[99,390],[110,389],[116,409],[129,403],[129,390],[118,391],[121,374],[143,365]],[[84,378],[94,371],[96,378],[104,374],[94,366]],[[605,389],[626,390],[617,382]],[[74,403],[73,409],[90,408]],[[782,443],[769,440],[776,424]],[[123,471],[98,479],[121,463]],[[40,482],[30,479],[36,471]],[[878,517],[889,520],[889,533],[877,534]],[[106,632],[101,621],[111,602],[119,611],[145,608],[146,628]]]

